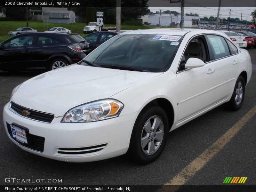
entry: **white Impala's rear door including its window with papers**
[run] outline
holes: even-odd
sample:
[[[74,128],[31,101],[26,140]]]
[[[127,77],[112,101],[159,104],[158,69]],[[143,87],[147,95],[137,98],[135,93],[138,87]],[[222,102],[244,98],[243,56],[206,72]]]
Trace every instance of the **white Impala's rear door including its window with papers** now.
[[[209,49],[214,56],[216,73],[216,101],[222,102],[233,93],[238,76],[238,49],[228,39],[218,35],[207,35]]]

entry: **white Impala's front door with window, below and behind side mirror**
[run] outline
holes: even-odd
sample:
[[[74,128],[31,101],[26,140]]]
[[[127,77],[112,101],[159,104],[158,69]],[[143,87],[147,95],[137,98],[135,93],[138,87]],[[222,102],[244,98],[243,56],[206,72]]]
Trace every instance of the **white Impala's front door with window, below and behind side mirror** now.
[[[204,61],[204,66],[185,69],[184,64],[191,57]],[[179,84],[178,124],[210,108],[215,102],[216,73],[204,36],[192,39],[183,53],[177,70]]]

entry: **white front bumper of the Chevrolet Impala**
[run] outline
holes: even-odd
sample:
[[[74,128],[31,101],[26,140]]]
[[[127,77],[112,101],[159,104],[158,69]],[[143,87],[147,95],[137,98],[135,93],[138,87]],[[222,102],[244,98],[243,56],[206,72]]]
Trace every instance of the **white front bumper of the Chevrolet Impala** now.
[[[4,127],[8,137],[25,151],[65,162],[91,162],[123,155],[129,148],[132,128],[137,113],[87,123],[60,123],[54,117],[51,124],[34,121],[13,113],[10,103],[4,106]],[[7,125],[16,124],[29,130],[29,134],[45,138],[43,152],[27,148],[15,141]],[[104,146],[98,150],[98,146]],[[92,150],[97,147],[96,150]],[[82,150],[83,149],[83,150]],[[68,151],[63,154],[60,151]],[[86,151],[85,153],[82,151]]]

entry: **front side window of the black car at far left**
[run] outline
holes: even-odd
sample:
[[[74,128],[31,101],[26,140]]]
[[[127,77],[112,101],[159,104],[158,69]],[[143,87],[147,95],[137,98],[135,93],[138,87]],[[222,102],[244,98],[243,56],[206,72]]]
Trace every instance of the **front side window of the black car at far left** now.
[[[4,44],[4,48],[7,49],[7,48],[15,48],[15,47],[19,48],[19,47],[32,46],[33,39],[34,39],[33,35],[17,37],[6,42]]]

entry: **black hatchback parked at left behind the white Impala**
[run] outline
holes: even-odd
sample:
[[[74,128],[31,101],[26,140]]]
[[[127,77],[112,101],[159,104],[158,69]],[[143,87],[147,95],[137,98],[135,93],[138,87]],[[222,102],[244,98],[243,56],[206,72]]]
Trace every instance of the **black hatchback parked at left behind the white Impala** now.
[[[82,60],[90,49],[78,34],[22,34],[0,44],[0,70],[61,68]]]

